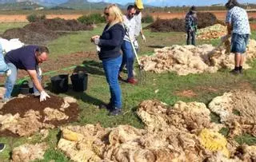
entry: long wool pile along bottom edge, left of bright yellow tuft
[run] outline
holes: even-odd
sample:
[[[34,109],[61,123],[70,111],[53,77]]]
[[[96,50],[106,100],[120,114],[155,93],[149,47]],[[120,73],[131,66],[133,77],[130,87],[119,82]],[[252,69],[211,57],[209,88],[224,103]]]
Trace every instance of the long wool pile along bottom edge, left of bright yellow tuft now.
[[[198,137],[175,127],[150,132],[129,125],[62,128],[58,149],[74,161],[202,161]]]

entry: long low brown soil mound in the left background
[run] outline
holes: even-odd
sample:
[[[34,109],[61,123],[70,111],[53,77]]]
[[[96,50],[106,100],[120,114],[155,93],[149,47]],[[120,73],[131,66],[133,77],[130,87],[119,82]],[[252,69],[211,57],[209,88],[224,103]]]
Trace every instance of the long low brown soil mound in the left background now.
[[[26,44],[46,45],[48,41],[54,40],[66,34],[65,31],[92,30],[92,26],[87,26],[76,20],[64,20],[61,18],[46,19],[40,22],[32,22],[23,28],[6,30],[2,38],[19,38]]]

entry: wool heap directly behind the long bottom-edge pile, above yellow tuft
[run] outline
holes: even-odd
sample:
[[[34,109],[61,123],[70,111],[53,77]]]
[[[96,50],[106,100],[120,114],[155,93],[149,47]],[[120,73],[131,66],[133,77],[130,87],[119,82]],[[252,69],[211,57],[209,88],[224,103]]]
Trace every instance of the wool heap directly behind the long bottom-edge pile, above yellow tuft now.
[[[146,128],[152,131],[174,126],[185,132],[198,132],[213,126],[210,110],[199,102],[178,101],[173,108],[168,108],[159,101],[143,101],[137,113]]]

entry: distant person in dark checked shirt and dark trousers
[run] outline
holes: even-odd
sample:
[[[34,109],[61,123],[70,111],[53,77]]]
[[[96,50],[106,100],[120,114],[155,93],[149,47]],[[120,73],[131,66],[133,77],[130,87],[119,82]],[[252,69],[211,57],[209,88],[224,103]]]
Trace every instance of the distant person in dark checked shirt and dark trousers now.
[[[186,45],[195,45],[195,34],[197,32],[197,16],[195,6],[191,6],[190,11],[186,14]]]

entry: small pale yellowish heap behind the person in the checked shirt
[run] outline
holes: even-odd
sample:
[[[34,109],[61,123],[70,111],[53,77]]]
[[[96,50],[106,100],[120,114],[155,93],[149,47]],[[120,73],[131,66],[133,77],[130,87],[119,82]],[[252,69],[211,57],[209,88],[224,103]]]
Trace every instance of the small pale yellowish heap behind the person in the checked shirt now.
[[[198,30],[197,38],[202,40],[221,38],[226,34],[226,26],[215,24]]]

